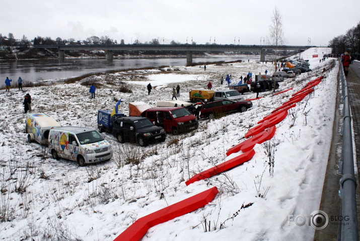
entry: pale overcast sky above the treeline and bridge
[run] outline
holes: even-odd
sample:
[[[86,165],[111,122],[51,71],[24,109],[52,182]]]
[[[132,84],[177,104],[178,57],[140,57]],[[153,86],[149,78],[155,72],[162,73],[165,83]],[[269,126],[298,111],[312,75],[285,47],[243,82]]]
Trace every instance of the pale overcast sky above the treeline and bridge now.
[[[131,43],[260,44],[275,6],[287,45],[327,45],[360,22],[359,0],[0,0],[0,33]]]

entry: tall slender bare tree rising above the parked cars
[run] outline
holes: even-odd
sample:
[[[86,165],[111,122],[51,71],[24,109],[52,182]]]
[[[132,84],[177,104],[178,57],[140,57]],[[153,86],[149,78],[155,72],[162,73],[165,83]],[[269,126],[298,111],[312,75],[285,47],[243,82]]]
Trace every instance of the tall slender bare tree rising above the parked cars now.
[[[282,19],[281,19],[281,14],[279,12],[279,10],[275,7],[274,9],[274,13],[273,16],[271,18],[271,25],[270,25],[270,42],[271,44],[275,45],[275,71],[276,71],[276,66],[277,66],[277,46],[280,44],[283,44],[284,42],[284,38],[283,38],[283,32],[282,32]],[[274,87],[274,92],[275,92],[275,79],[273,80],[273,87]]]

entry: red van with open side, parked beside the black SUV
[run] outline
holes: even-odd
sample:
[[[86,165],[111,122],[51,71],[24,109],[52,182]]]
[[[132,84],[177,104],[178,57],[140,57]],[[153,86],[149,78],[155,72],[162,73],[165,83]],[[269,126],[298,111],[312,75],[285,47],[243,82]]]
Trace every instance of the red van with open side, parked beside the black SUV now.
[[[193,131],[199,123],[195,115],[184,107],[156,107],[141,113],[142,116],[155,122],[156,126],[163,127],[166,132],[177,135],[182,132]]]

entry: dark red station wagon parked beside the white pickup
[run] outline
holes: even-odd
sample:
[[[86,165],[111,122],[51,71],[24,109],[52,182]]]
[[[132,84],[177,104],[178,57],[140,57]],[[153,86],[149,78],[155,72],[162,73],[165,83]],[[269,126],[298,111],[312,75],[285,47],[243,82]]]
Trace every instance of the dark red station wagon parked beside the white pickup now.
[[[252,107],[252,102],[247,100],[233,101],[233,100],[216,100],[208,102],[201,106],[200,118],[208,117],[214,118],[219,114],[231,112],[244,112]]]

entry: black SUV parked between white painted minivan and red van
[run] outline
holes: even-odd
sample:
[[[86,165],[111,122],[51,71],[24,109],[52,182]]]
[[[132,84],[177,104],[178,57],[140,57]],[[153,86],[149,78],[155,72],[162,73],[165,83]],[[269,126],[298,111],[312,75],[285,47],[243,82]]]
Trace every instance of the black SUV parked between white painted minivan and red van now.
[[[136,142],[140,146],[146,146],[155,141],[163,142],[166,139],[164,128],[154,126],[148,118],[142,116],[116,118],[112,134],[120,143]]]

